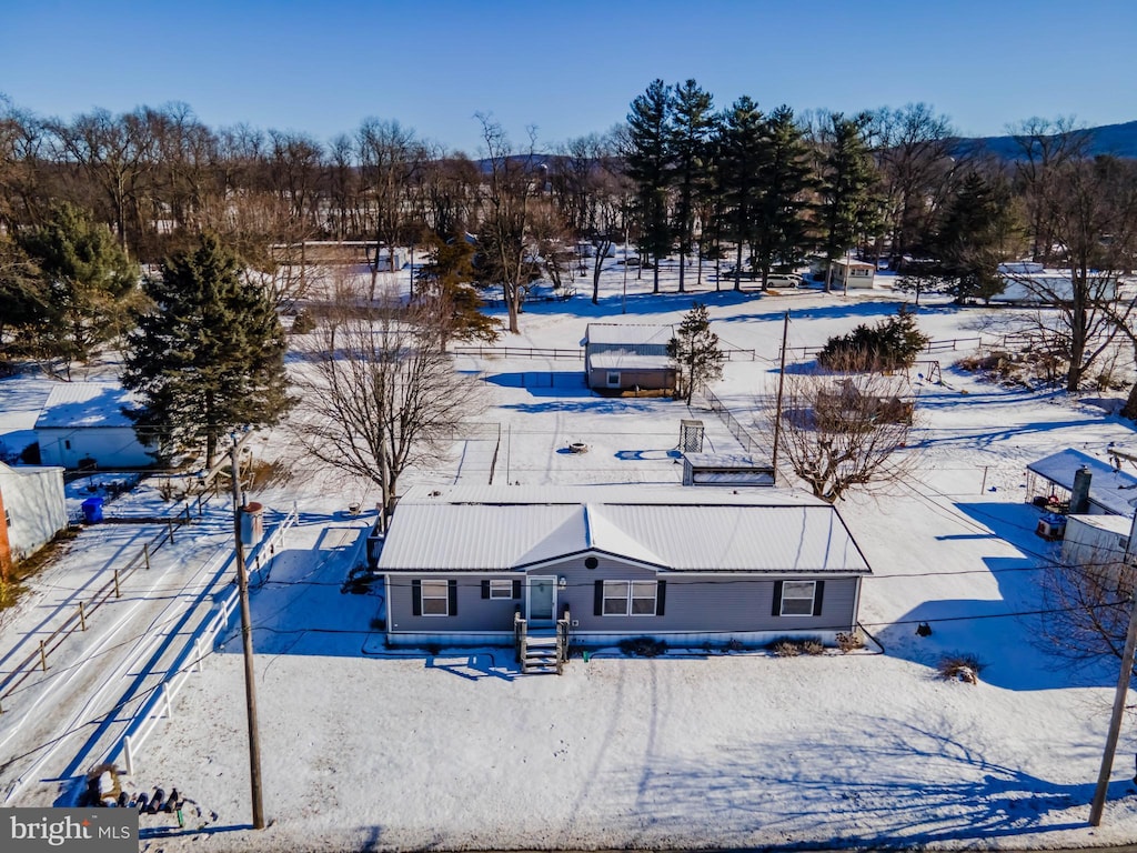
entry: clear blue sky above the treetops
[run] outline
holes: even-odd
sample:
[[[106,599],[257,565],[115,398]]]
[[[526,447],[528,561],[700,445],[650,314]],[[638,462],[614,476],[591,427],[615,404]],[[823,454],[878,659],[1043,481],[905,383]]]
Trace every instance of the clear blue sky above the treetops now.
[[[40,116],[189,103],[208,125],[351,133],[366,117],[476,154],[601,132],[661,77],[725,107],[924,101],[964,135],[1137,119],[1134,0],[9,0],[0,92]]]

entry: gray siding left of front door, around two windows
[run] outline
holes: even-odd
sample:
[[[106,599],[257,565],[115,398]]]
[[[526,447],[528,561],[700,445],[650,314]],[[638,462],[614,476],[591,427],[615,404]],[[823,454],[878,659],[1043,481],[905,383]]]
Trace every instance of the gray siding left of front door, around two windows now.
[[[429,631],[439,633],[462,631],[513,631],[513,614],[517,605],[524,604],[524,586],[521,598],[482,598],[483,580],[517,580],[512,574],[423,574],[388,575],[387,618],[389,630]],[[456,580],[458,614],[456,616],[414,615],[413,581]]]

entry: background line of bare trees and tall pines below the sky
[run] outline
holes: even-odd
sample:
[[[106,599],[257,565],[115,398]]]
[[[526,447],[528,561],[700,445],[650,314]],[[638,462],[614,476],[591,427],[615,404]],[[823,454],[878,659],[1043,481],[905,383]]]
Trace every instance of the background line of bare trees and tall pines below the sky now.
[[[302,296],[308,241],[417,249],[429,263],[416,288],[433,306],[424,316],[448,322],[443,347],[497,333],[465,285],[498,289],[517,332],[532,281],[557,285],[588,264],[598,301],[612,247],[628,243],[654,290],[675,255],[680,291],[704,274],[696,259],[728,266],[716,288],[741,288],[856,255],[899,265],[918,300],[947,290],[961,303],[989,298],[1003,287],[997,264],[1027,257],[1071,271],[1071,291],[1052,295],[1051,336],[1070,390],[1119,336],[1137,348],[1128,307],[1101,288],[1131,267],[1137,166],[1090,157],[1070,119],[1018,125],[1011,162],[964,146],[924,103],[797,115],[742,96],[716,109],[694,80],[653,81],[624,124],[543,150],[534,132],[517,146],[479,121],[474,159],[396,121],[367,118],[324,143],[211,129],[183,103],[64,121],[0,99],[0,358],[66,372],[124,342],[156,304],[134,285],[138,265],[168,268],[158,265],[198,251],[202,235],[277,310]],[[379,268],[376,251],[372,299]]]

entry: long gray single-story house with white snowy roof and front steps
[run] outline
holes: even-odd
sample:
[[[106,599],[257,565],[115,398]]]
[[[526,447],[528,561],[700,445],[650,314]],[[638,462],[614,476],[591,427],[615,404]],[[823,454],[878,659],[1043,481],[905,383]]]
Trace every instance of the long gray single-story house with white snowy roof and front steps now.
[[[376,571],[387,639],[574,646],[835,644],[871,573],[837,508],[804,492],[682,486],[416,487]]]

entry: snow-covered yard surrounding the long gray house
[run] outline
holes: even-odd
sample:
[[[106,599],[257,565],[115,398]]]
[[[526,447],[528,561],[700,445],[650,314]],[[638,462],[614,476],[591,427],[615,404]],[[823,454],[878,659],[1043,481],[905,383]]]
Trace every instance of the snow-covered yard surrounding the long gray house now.
[[[647,275],[629,280],[626,300],[622,272],[613,270],[599,306],[584,288],[568,301],[531,305],[520,338],[503,343],[576,347],[590,320],[678,322],[698,298],[725,342],[756,353],[755,361],[731,362],[714,388],[749,425],[775,376],[786,310],[789,346],[816,347],[893,313],[899,298],[887,289],[758,297],[716,293],[713,283],[678,295],[672,271],[666,292],[652,296]],[[557,678],[522,677],[507,648],[390,652],[373,628],[381,599],[341,593],[371,521],[345,511],[374,506],[374,489],[305,466],[283,431],[258,438],[257,454],[291,459],[297,473],[251,497],[300,512],[269,582],[252,596],[269,827],[249,828],[234,627],[177,695],[128,779],[131,789],[176,786],[193,801],[184,829],[171,815],[143,815],[144,846],[1137,842],[1131,719],[1103,826],[1088,826],[1117,671],[1071,671],[1037,643],[1038,566],[1055,550],[1034,535],[1037,511],[1023,499],[1027,462],[1068,446],[1104,457],[1110,441],[1131,441],[1132,425],[1107,415],[1102,400],[985,386],[949,368],[1012,316],[944,301],[919,309],[926,333],[960,343],[936,356],[944,383],[918,380],[913,477],[840,504],[874,571],[861,621],[877,643],[850,655],[673,649],[649,660],[611,651],[573,659]],[[480,420],[500,426],[496,474],[511,482],[678,482],[680,466],[667,450],[679,420],[691,416],[705,422],[713,449],[738,449],[698,399],[689,409],[666,399],[590,396],[578,379],[580,362],[462,356],[459,367],[484,380],[490,407]],[[11,420],[0,423],[19,429]],[[483,432],[413,480],[483,482],[491,458]],[[572,441],[587,442],[589,453],[563,453]],[[80,541],[89,536],[90,555],[99,529]],[[64,562],[77,558],[73,546]],[[921,622],[931,636],[916,636]],[[936,663],[951,653],[986,663],[979,685],[938,678]],[[27,785],[16,804],[59,802],[58,780],[44,779]]]

